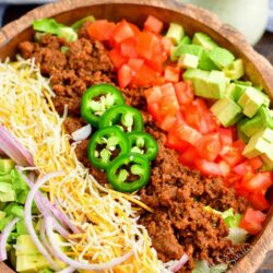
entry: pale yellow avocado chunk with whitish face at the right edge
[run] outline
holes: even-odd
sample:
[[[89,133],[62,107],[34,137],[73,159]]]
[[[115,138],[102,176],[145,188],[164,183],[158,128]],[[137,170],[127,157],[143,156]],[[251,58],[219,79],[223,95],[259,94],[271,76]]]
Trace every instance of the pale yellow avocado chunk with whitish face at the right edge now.
[[[271,149],[272,142],[273,130],[265,128],[250,138],[249,143],[242,151],[242,155],[251,158],[262,154],[266,154]]]

